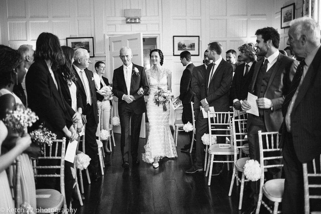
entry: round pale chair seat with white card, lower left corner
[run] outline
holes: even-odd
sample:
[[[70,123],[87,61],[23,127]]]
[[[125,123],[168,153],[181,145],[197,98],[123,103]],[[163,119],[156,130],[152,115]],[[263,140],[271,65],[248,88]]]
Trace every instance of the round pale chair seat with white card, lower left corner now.
[[[48,198],[42,198],[40,195],[50,195]],[[64,197],[60,192],[53,189],[38,189],[36,190],[36,201],[37,201],[37,208],[40,210],[45,209],[60,209],[63,206]],[[40,198],[39,198],[40,197]],[[41,209],[40,209],[41,208]]]

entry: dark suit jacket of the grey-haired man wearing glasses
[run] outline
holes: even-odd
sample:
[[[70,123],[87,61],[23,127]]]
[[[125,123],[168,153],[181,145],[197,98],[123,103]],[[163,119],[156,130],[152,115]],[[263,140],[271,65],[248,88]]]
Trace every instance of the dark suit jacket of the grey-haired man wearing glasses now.
[[[75,76],[77,78],[77,81],[75,82],[75,84],[76,84],[77,88],[80,89],[80,96],[82,98],[82,106],[85,108],[85,106],[87,105],[87,96],[86,96],[85,88],[84,88],[84,86],[82,84],[82,81],[80,79],[80,76],[78,75],[78,73],[77,73],[76,69],[74,68],[74,66],[73,66],[73,69],[74,69]],[[87,77],[88,82],[89,82],[91,101],[92,101],[91,105],[92,105],[92,107],[94,109],[95,122],[96,122],[96,124],[98,124],[99,116],[98,116],[96,86],[95,86],[95,81],[94,81],[94,75],[87,68],[84,69],[84,72],[85,72],[86,77]]]

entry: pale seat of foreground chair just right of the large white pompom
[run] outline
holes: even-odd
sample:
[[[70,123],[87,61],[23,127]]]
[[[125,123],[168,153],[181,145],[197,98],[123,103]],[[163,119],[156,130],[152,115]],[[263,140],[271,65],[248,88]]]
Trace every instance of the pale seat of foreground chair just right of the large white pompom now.
[[[282,202],[284,179],[272,179],[263,185],[264,195],[271,201]]]

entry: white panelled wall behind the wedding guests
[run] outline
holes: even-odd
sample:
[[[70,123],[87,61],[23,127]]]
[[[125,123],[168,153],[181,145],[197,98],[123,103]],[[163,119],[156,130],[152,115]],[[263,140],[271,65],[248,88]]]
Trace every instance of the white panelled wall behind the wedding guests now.
[[[96,61],[108,59],[108,37],[142,32],[143,37],[157,37],[177,96],[184,67],[179,56],[173,56],[173,36],[200,36],[200,56],[192,56],[196,66],[202,64],[209,42],[221,42],[225,59],[228,49],[255,43],[255,31],[266,26],[279,30],[283,49],[288,29],[280,28],[280,11],[291,3],[300,17],[301,0],[0,0],[0,39],[13,48],[35,48],[43,31],[56,34],[61,45],[66,37],[94,37],[94,69]],[[125,9],[142,9],[142,22],[126,24]],[[113,71],[106,68],[111,81]]]

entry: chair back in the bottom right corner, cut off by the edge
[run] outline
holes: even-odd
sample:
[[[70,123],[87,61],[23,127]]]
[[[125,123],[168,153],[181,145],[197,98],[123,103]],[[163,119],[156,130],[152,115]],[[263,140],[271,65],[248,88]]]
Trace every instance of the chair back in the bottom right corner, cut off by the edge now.
[[[316,164],[316,161],[318,163]],[[321,199],[321,193],[318,191],[319,194],[313,194],[310,195],[309,193],[309,188],[311,189],[316,189],[316,188],[321,188],[320,182],[317,183],[317,180],[320,181],[321,178],[321,155],[319,156],[319,159],[313,159],[312,161],[313,165],[313,173],[308,173],[308,163],[303,163],[303,185],[304,185],[304,213],[309,214],[310,213],[310,198],[312,199]],[[310,163],[309,163],[310,164]],[[317,169],[320,167],[319,169]],[[319,171],[320,170],[320,171]],[[318,178],[318,179],[310,179],[310,184],[309,184],[309,179],[308,178]],[[314,182],[312,182],[314,181]],[[313,184],[311,184],[313,183]],[[317,193],[317,191],[315,191]]]

